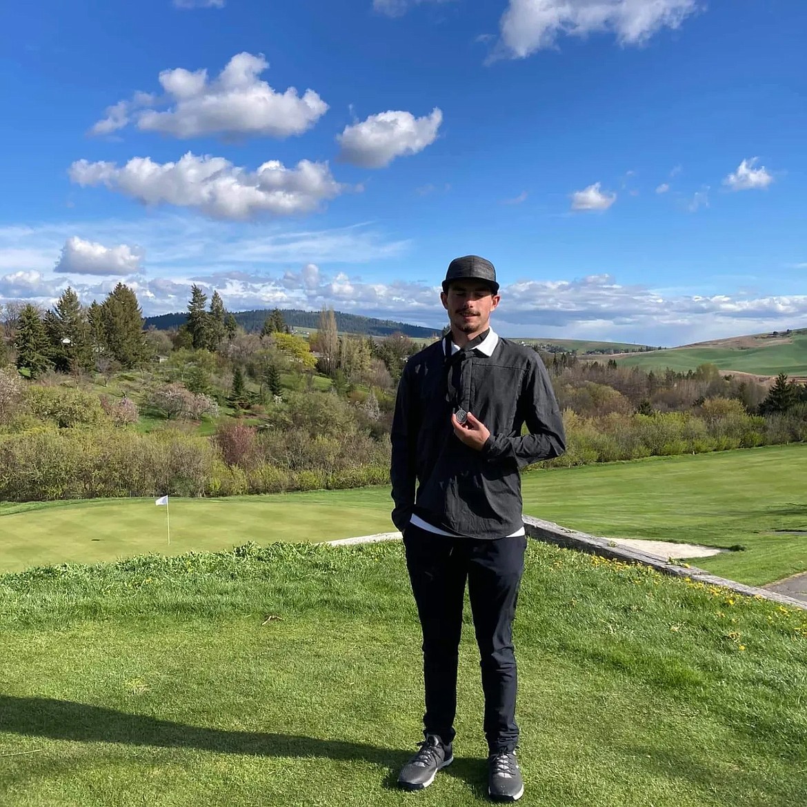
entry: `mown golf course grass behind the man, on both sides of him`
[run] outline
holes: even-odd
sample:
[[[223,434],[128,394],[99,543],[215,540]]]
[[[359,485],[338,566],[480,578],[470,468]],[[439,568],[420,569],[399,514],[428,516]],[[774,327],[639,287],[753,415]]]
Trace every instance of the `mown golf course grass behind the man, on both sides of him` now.
[[[760,585],[807,571],[807,445],[651,458],[524,477],[525,513],[604,537],[746,546],[695,565]],[[226,499],[0,504],[0,571],[253,541],[332,541],[387,532],[387,487]]]

